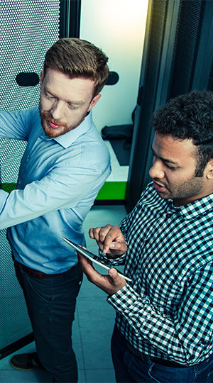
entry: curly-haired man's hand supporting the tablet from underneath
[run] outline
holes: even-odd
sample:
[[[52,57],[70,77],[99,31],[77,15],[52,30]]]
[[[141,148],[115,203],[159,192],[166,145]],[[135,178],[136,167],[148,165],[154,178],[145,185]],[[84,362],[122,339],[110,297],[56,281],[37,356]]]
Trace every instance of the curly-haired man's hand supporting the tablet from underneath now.
[[[77,257],[89,282],[92,282],[107,294],[113,295],[126,285],[126,280],[121,278],[114,268],[109,270],[109,275],[102,275],[94,270],[92,262],[80,252],[77,252]]]

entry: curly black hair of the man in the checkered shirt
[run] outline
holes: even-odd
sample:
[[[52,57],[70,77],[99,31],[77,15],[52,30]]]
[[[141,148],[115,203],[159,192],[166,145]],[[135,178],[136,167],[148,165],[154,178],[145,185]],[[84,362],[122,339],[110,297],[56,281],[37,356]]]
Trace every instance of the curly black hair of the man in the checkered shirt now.
[[[180,140],[192,139],[197,146],[196,177],[202,177],[213,158],[213,92],[190,91],[168,101],[153,113],[153,129]]]

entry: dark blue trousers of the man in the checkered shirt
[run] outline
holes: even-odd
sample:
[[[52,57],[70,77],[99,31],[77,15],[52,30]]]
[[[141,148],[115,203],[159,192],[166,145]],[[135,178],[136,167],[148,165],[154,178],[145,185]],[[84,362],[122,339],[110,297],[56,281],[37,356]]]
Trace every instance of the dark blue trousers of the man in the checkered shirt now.
[[[133,355],[126,338],[115,327],[111,338],[111,355],[119,383],[210,383],[213,382],[213,357],[192,367],[167,367]]]

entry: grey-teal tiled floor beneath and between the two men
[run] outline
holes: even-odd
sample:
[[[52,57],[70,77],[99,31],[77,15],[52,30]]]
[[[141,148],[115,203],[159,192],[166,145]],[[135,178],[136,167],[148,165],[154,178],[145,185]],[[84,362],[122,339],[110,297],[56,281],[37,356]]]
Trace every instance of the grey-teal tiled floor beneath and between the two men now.
[[[87,234],[90,227],[103,226],[107,223],[117,225],[125,215],[124,206],[94,206],[84,222],[87,248],[97,251],[95,241],[91,240]],[[97,270],[100,268],[97,267]],[[73,324],[73,347],[77,356],[80,383],[115,382],[110,355],[110,338],[115,313],[106,299],[107,294],[94,287],[84,277]],[[34,344],[31,343],[18,350],[18,353],[34,350]],[[48,372],[14,370],[9,364],[12,355],[0,360],[1,383],[51,382]]]

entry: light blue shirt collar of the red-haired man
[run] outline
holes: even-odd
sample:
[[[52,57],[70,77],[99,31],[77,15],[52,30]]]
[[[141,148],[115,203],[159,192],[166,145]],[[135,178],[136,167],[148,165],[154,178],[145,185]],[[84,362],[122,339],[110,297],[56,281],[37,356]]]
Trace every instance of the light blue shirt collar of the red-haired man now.
[[[80,125],[77,126],[77,128],[73,129],[70,132],[62,134],[56,138],[49,138],[47,135],[45,135],[44,132],[43,133],[45,135],[46,140],[55,140],[57,143],[62,145],[63,148],[66,149],[66,148],[69,148],[69,146],[72,145],[72,143],[74,143],[75,140],[77,140],[77,138],[80,137],[80,135],[88,131],[89,128],[91,128],[91,126],[92,126],[92,111],[89,111],[89,114],[87,114],[87,116],[84,118],[82,123],[80,123]]]

